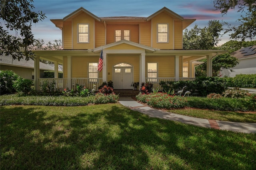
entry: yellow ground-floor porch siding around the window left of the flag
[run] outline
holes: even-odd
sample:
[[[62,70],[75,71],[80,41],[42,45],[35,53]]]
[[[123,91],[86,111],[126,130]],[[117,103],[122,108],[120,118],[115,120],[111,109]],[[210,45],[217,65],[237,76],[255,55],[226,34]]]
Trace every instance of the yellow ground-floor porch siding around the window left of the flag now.
[[[99,56],[72,56],[72,77],[88,77],[88,63],[98,63]]]

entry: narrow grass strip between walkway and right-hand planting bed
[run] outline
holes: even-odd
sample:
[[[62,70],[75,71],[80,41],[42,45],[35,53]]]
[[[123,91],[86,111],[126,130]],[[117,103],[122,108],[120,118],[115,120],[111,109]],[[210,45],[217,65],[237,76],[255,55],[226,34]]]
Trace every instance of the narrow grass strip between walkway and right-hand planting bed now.
[[[207,109],[191,109],[191,108],[168,110],[168,112],[176,113],[179,115],[186,115],[190,117],[212,119],[212,120],[218,120],[218,121],[256,123],[256,112],[242,113],[242,112],[234,112],[234,111],[214,111],[214,110],[207,110]]]

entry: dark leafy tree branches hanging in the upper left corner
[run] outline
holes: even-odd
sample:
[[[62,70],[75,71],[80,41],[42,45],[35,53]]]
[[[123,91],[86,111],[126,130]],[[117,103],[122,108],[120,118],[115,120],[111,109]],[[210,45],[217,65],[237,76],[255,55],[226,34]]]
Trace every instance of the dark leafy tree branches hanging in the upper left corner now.
[[[14,59],[20,60],[24,56],[28,60],[34,53],[28,49],[34,43],[32,34],[32,23],[42,21],[46,16],[40,12],[32,11],[33,0],[1,0],[0,19],[4,22],[6,29],[0,23],[0,55],[12,55]],[[15,36],[10,35],[15,32]]]

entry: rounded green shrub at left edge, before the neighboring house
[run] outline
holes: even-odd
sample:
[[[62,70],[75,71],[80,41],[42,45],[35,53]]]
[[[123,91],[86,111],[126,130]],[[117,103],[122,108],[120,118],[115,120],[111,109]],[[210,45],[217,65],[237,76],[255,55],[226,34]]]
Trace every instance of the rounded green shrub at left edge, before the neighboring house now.
[[[14,81],[16,81],[20,76],[11,70],[0,71],[0,94],[12,94],[15,93],[15,88],[13,87]]]

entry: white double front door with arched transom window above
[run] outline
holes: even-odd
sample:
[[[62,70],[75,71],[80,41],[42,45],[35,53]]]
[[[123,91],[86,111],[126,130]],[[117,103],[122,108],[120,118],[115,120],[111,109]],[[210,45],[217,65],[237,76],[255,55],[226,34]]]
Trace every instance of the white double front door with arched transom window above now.
[[[113,66],[114,89],[132,89],[133,66],[128,63],[118,63]]]

